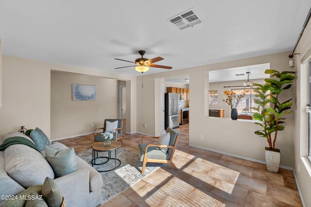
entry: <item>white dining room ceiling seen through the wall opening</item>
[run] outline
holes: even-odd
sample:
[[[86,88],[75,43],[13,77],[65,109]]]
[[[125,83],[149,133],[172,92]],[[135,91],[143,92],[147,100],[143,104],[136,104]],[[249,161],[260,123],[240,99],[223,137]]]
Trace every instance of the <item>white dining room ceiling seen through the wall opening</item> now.
[[[228,68],[224,70],[209,71],[209,82],[225,82],[235,80],[247,80],[246,72],[250,72],[249,79],[267,79],[269,74],[265,74],[264,71],[270,69],[270,64],[256,64],[243,67]],[[244,76],[236,76],[235,74],[245,74]]]

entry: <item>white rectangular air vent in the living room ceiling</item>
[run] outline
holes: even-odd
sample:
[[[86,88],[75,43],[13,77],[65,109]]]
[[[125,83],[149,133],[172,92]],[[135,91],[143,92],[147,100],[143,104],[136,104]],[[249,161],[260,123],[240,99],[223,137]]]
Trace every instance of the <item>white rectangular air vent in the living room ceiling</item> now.
[[[193,10],[193,8],[168,18],[167,20],[180,30],[193,27],[193,25],[203,22],[203,19]]]

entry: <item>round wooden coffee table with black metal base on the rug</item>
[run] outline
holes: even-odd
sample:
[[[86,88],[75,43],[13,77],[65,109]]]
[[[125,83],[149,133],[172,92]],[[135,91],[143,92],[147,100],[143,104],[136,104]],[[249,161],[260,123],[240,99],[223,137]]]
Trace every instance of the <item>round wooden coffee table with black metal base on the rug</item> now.
[[[121,143],[120,142],[115,142],[112,141],[111,144],[109,146],[104,146],[104,142],[97,142],[97,143],[93,143],[92,144],[92,167],[94,165],[103,165],[105,163],[107,163],[110,159],[114,159],[115,160],[115,167],[110,169],[110,170],[97,170],[98,172],[108,172],[108,171],[112,171],[114,169],[117,169],[118,167],[120,167],[121,165],[121,160],[117,159],[117,149],[121,147]],[[115,150],[115,158],[111,158],[111,151]],[[98,152],[108,152],[108,157],[98,157]],[[96,163],[96,159],[99,158],[106,158],[107,161],[102,162],[102,163]],[[117,166],[117,160],[119,161],[119,165]]]

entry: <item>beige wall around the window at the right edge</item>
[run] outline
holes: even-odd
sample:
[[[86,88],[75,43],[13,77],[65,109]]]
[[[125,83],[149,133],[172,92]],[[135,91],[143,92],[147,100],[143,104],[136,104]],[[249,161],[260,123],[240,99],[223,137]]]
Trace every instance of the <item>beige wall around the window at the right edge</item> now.
[[[294,53],[294,172],[298,181],[299,190],[306,207],[311,206],[311,162],[308,157],[308,114],[305,112],[308,91],[308,63],[302,64],[301,59],[311,58],[311,22]]]

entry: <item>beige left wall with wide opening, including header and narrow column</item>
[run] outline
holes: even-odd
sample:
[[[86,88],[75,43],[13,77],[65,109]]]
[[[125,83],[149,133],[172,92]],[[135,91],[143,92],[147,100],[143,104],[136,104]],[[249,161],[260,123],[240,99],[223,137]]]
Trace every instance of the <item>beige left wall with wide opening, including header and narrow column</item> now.
[[[127,119],[132,122],[126,131],[137,131],[136,77],[2,55],[0,136],[17,131],[23,125],[26,128],[40,127],[51,137],[51,70],[126,80],[127,101],[130,101]]]

